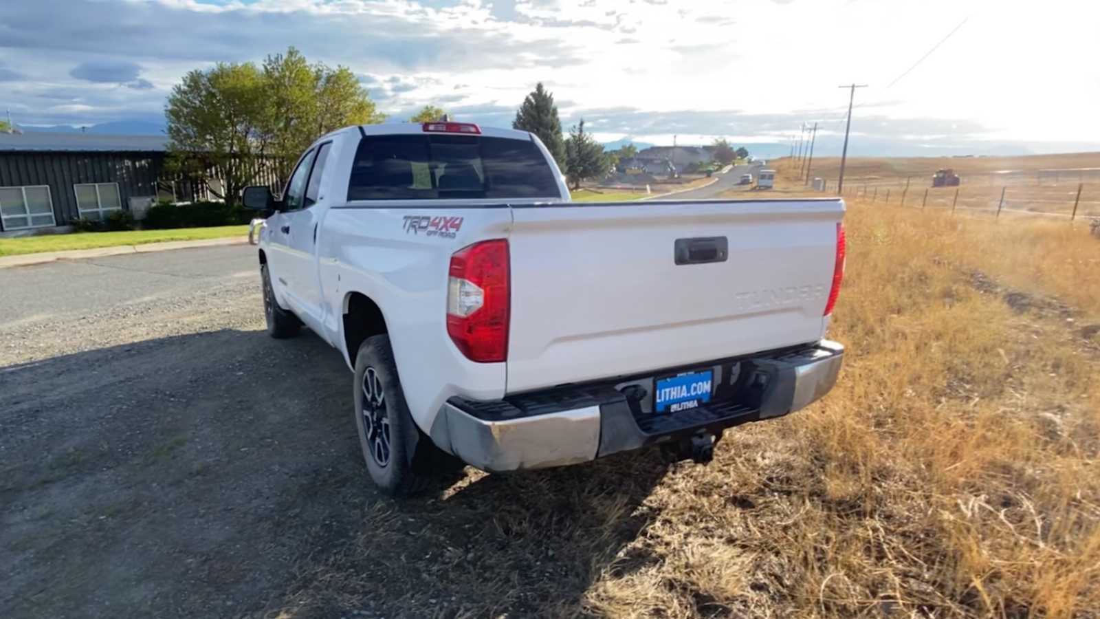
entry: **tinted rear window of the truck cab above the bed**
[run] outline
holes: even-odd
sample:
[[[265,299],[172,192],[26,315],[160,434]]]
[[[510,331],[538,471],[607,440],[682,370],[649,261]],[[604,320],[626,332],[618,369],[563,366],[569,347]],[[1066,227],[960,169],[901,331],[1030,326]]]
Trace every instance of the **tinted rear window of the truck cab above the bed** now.
[[[349,200],[556,197],[534,142],[477,135],[363,138],[348,185]]]

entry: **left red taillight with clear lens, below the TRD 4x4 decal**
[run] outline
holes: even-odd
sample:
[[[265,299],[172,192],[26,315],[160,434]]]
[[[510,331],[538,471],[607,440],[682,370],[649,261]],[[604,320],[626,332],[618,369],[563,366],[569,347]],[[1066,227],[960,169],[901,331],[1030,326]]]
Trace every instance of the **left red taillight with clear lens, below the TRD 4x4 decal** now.
[[[508,241],[482,241],[451,257],[447,333],[459,350],[483,363],[508,358]]]

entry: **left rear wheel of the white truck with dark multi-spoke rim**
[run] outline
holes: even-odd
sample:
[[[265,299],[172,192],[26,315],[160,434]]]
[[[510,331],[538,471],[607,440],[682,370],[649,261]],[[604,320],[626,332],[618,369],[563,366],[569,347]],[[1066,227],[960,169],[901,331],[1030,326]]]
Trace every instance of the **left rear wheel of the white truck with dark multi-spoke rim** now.
[[[413,421],[388,335],[369,337],[355,355],[355,427],[371,480],[391,497],[424,490],[462,464],[436,447]]]

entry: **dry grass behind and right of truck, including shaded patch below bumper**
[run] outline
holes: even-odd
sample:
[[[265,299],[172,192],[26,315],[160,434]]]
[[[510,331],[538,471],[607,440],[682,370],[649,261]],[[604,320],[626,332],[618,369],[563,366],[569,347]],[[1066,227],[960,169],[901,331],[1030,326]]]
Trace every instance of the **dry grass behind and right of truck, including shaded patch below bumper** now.
[[[1100,242],[849,207],[825,400],[705,467],[626,454],[367,507],[290,616],[1100,616]]]

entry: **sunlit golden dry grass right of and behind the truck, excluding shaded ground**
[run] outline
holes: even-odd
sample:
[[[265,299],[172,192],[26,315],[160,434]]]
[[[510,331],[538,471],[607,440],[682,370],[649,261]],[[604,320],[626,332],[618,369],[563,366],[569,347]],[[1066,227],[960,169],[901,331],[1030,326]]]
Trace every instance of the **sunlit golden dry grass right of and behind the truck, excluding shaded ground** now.
[[[840,384],[659,487],[661,519],[626,554],[660,560],[612,564],[587,608],[1097,616],[1100,339],[1080,323],[1100,310],[1100,246],[862,203],[847,220]],[[1020,290],[976,286],[975,271]]]

